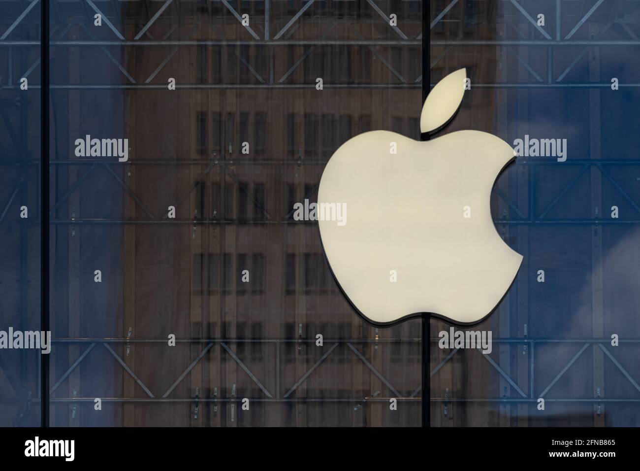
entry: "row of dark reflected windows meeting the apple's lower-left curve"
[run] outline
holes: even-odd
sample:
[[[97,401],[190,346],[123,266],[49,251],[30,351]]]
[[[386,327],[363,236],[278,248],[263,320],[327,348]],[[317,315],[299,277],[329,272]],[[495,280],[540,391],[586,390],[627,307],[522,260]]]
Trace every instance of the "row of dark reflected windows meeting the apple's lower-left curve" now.
[[[296,293],[298,286],[322,292],[335,288],[323,254],[288,253],[283,262],[285,294]],[[266,266],[266,256],[259,252],[193,254],[191,290],[196,293],[264,294]]]

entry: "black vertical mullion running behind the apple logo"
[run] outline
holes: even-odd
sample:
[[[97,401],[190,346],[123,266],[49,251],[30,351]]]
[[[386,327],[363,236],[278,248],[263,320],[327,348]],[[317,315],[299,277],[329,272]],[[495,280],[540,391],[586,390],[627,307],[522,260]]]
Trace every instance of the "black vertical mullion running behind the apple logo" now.
[[[422,0],[422,103],[431,91],[431,0]],[[429,140],[429,134],[420,135]],[[422,427],[431,427],[431,317],[422,315]]]

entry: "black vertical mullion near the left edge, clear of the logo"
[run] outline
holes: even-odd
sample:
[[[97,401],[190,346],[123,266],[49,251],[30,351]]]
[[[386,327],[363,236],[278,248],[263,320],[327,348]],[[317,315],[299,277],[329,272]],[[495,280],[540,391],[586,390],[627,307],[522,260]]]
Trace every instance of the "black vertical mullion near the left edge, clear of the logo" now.
[[[40,330],[49,331],[49,0],[40,13]],[[49,354],[40,355],[40,425],[49,427]]]

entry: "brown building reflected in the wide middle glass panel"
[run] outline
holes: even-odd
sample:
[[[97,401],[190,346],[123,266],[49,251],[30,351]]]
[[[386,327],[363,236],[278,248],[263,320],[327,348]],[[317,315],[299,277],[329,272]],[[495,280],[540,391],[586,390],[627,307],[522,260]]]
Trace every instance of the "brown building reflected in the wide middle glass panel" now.
[[[276,16],[275,10],[281,6],[274,2],[271,8],[272,21],[278,18],[271,32],[275,35],[295,12]],[[420,406],[416,399],[395,419],[387,417],[384,411],[388,406],[381,402],[371,402],[363,410],[363,402],[355,399],[395,394],[374,376],[347,342],[341,340],[334,350],[335,342],[330,340],[366,339],[366,343],[349,343],[402,395],[409,395],[420,385],[420,345],[407,340],[419,338],[420,322],[380,331],[365,326],[333,283],[316,224],[295,222],[291,217],[295,202],[305,197],[316,199],[324,163],[351,136],[375,128],[419,136],[420,84],[403,85],[368,47],[340,44],[347,38],[356,40],[358,35],[396,39],[370,13],[365,13],[368,17],[362,22],[353,17],[353,28],[342,22],[341,15],[336,17],[339,24],[327,37],[335,43],[331,45],[185,47],[153,81],[164,83],[174,77],[178,84],[175,92],[126,92],[127,135],[136,149],[145,149],[144,153],[134,151],[134,161],[138,163],[130,186],[135,187],[141,201],[150,204],[154,214],[166,213],[169,204],[188,194],[175,205],[176,219],[195,219],[198,223],[195,227],[166,224],[125,229],[125,252],[134,254],[135,260],[129,267],[131,271],[124,274],[125,285],[127,279],[140,278],[141,270],[148,269],[145,265],[138,267],[138,260],[151,259],[156,260],[153,266],[159,276],[166,273],[167,283],[170,279],[180,283],[173,291],[165,292],[158,292],[155,283],[148,288],[139,288],[136,283],[136,290],[131,293],[136,309],[125,311],[124,329],[161,312],[163,318],[175,322],[179,338],[243,340],[225,345],[269,394],[274,398],[279,395],[281,401],[252,404],[250,417],[242,417],[243,413],[235,409],[233,420],[228,405],[220,406],[216,412],[203,406],[200,424],[419,424]],[[256,14],[260,17],[262,12]],[[318,14],[321,16],[316,17]],[[300,24],[291,40],[322,37],[332,27],[332,17],[324,17],[320,10],[314,12],[314,21]],[[204,20],[211,21],[208,17]],[[214,28],[201,26],[192,38],[202,42],[221,37],[251,39],[234,17],[228,15],[222,24],[219,21],[214,20]],[[260,18],[256,22],[261,26],[262,21]],[[405,24],[412,37],[420,34],[419,17],[407,16]],[[163,28],[168,30],[170,25],[159,27],[154,36],[163,35]],[[191,26],[181,25],[177,31],[191,31]],[[390,57],[389,66],[406,76],[406,81],[414,82],[421,73],[419,42],[410,46],[399,43],[395,48],[395,54],[384,46],[376,53]],[[127,70],[156,69],[167,51],[149,49],[132,55]],[[301,58],[304,59],[299,62]],[[296,63],[298,67],[293,68]],[[316,78],[323,79],[321,91],[314,87]],[[380,84],[385,83],[396,86],[381,88]],[[335,88],[334,84],[348,88]],[[140,129],[149,115],[168,117],[168,126],[173,125],[175,133],[164,133],[159,138],[157,121],[152,131],[147,131],[144,124]],[[179,118],[175,124],[173,117]],[[244,142],[249,145],[248,154],[242,153]],[[176,162],[165,167],[140,163],[147,159]],[[189,192],[192,182],[193,190]],[[132,201],[125,204],[128,217],[147,219]],[[147,238],[156,243],[144,242]],[[160,246],[173,248],[170,256],[157,260]],[[242,281],[245,269],[249,270],[250,283]],[[125,292],[125,299],[126,296]],[[143,304],[139,304],[140,298]],[[168,308],[175,306],[177,299],[182,300],[180,314]],[[164,330],[163,326],[145,336],[162,338],[166,336]],[[324,347],[316,346],[318,333],[327,339]],[[376,335],[378,343],[372,342]],[[390,338],[400,337],[403,343],[388,343]],[[273,342],[276,339],[284,341]],[[180,359],[167,351],[163,361],[180,367],[188,365],[205,345],[185,349]],[[287,395],[330,350],[306,381]],[[151,370],[157,358],[136,355],[131,359],[130,355],[129,361],[134,361],[136,368]],[[176,370],[175,376],[179,374]],[[276,384],[280,384],[278,392]],[[196,387],[200,388],[200,397],[211,397],[215,392],[218,398],[266,398],[266,393],[243,372],[225,347],[217,344],[172,395],[193,397]],[[282,402],[284,399],[292,402]],[[191,406],[178,407],[184,408],[184,417],[174,415],[175,424],[194,424],[188,413]]]

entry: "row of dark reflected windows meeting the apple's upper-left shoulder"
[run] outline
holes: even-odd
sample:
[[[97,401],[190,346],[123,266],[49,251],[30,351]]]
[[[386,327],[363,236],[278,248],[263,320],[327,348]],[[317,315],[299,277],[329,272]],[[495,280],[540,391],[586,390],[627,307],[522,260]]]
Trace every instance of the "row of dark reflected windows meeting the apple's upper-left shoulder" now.
[[[305,156],[330,157],[355,134],[371,130],[371,115],[355,119],[351,115],[304,113],[300,120],[296,113],[287,113],[284,118],[284,136],[273,137],[278,143],[284,142],[288,156],[300,156],[304,151]],[[230,149],[232,153],[239,153],[238,146],[243,142],[249,144],[249,156],[264,156],[269,149],[266,112],[241,112],[237,126],[235,113],[226,113],[223,117],[221,112],[198,112],[195,124],[196,151],[200,154],[228,153]],[[392,117],[390,125],[393,131],[406,136],[420,136],[418,118]]]

